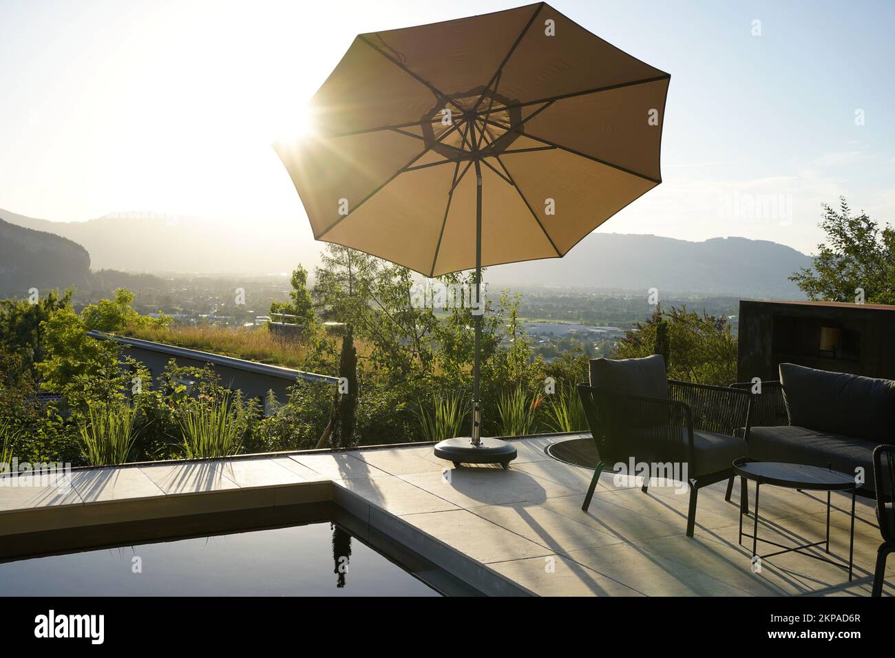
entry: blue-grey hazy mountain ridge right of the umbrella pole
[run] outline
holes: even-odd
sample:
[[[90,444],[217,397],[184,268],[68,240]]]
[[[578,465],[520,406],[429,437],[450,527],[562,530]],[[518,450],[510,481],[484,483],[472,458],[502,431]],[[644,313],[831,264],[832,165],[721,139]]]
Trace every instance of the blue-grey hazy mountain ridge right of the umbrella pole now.
[[[664,292],[804,299],[788,280],[809,256],[783,244],[745,237],[688,242],[658,235],[592,233],[565,258],[488,269],[491,286],[650,288]]]

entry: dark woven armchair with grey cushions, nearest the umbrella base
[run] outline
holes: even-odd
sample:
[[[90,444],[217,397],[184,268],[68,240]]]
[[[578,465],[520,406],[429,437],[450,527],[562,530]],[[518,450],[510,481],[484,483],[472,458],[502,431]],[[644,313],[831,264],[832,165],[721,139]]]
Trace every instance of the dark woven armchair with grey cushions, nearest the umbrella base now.
[[[646,464],[649,475],[687,483],[686,534],[692,537],[697,491],[729,479],[734,459],[746,455],[744,438],[735,434],[748,433],[749,392],[667,380],[664,360],[653,355],[592,361],[591,385],[579,384],[578,394],[600,454],[582,509],[590,506],[604,469]],[[644,492],[648,484],[649,476]]]

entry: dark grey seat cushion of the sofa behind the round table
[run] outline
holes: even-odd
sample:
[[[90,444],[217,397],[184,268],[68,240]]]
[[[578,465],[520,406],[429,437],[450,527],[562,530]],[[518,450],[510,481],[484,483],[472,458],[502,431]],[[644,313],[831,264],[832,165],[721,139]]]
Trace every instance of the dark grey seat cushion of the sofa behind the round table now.
[[[759,461],[829,466],[848,475],[862,468],[864,483],[859,488],[874,489],[874,448],[878,441],[784,425],[750,428],[747,444],[748,457]]]

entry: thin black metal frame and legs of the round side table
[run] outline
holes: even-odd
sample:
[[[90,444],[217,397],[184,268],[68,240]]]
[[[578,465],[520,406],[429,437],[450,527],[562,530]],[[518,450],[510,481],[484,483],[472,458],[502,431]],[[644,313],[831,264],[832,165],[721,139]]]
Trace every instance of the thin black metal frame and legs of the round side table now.
[[[765,560],[766,558],[772,558],[775,555],[781,555],[783,553],[788,552],[797,552],[802,555],[807,555],[809,558],[814,558],[814,560],[821,560],[823,562],[829,562],[831,565],[839,568],[843,568],[848,571],[848,581],[851,582],[851,579],[854,574],[854,558],[855,558],[855,495],[857,492],[857,485],[854,481],[848,486],[844,484],[831,484],[831,483],[793,483],[788,482],[786,480],[780,480],[770,477],[762,477],[760,475],[744,472],[739,469],[739,466],[744,466],[748,464],[748,460],[746,457],[740,457],[736,461],[734,461],[734,471],[739,475],[740,482],[743,484],[742,490],[746,490],[746,480],[752,480],[755,483],[755,512],[754,512],[754,523],[753,523],[753,531],[752,534],[743,532],[743,506],[739,506],[739,545],[743,545],[743,537],[751,537],[752,538],[752,558],[758,557],[760,560]],[[754,462],[752,462],[754,463]],[[848,477],[843,474],[844,477]],[[762,539],[758,536],[758,494],[761,489],[762,483],[770,484],[771,486],[783,487],[785,489],[796,489],[796,490],[808,490],[808,491],[826,491],[827,492],[827,534],[826,538],[821,542],[814,543],[806,543],[800,544],[797,546],[786,546],[782,543],[771,542],[769,539]],[[831,560],[829,558],[824,558],[822,555],[814,555],[814,553],[808,552],[807,549],[814,548],[815,546],[820,546],[821,544],[825,544],[824,551],[828,555],[830,555],[830,498],[832,491],[851,491],[851,532],[849,534],[848,541],[848,564],[845,563],[844,558],[840,558],[836,556],[836,560]],[[748,511],[746,511],[748,514]],[[758,555],[758,543],[770,543],[773,546],[777,546],[782,551],[774,551],[772,553],[766,553],[765,555]]]

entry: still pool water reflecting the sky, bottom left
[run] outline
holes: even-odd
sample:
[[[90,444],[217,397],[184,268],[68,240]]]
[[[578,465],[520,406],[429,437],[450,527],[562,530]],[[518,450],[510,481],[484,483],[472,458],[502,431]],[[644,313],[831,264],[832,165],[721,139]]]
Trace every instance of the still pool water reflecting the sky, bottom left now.
[[[439,596],[336,524],[0,563],[0,595]]]

